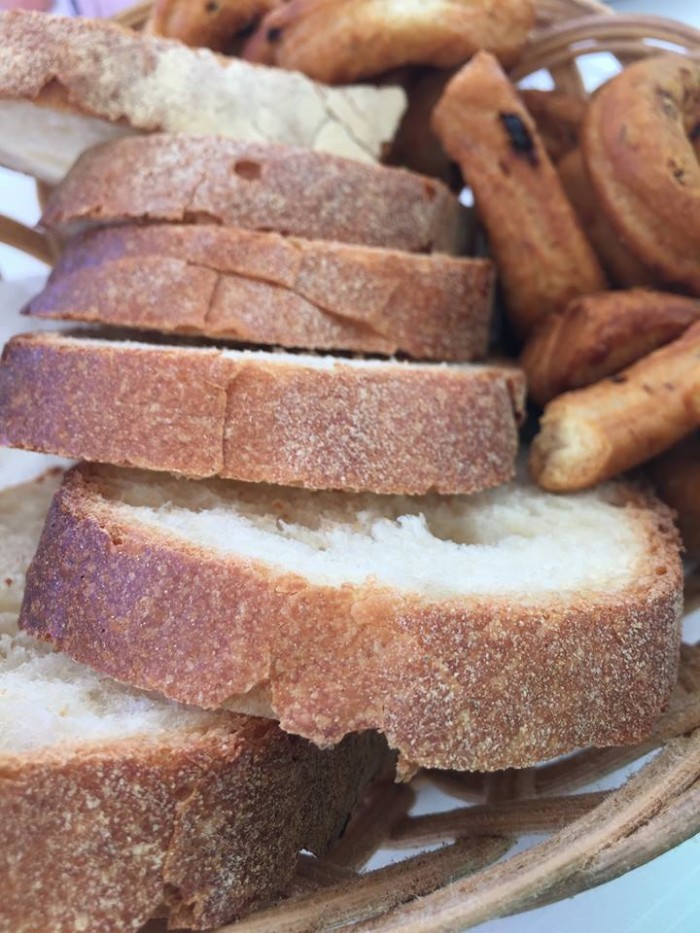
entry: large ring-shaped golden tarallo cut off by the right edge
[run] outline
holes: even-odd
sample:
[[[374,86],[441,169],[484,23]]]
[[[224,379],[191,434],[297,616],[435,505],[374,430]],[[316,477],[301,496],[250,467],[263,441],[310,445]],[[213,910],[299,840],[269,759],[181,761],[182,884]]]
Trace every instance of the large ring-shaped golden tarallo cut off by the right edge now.
[[[593,98],[583,152],[625,245],[661,281],[700,295],[700,61],[645,58]]]

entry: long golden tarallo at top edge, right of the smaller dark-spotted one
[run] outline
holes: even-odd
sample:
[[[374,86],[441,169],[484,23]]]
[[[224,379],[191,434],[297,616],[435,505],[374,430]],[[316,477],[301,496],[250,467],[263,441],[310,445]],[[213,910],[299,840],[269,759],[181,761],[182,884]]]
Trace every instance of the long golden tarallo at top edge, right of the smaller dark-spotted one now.
[[[455,68],[479,49],[511,65],[533,25],[531,0],[291,0],[265,17],[244,57],[342,84],[403,65]]]

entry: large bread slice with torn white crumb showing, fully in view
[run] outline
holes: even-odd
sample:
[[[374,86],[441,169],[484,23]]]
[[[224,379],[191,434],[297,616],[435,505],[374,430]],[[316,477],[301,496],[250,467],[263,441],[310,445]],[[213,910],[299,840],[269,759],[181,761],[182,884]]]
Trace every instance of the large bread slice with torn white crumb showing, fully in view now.
[[[492,770],[648,735],[681,595],[671,513],[631,484],[409,499],[81,466],[22,625],[319,745],[377,729],[405,762]]]

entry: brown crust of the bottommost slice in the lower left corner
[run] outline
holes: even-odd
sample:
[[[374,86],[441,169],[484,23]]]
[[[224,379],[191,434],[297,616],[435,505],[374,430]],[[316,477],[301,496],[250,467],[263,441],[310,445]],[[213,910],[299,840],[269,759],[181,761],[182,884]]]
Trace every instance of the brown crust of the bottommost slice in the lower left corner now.
[[[164,909],[209,929],[332,843],[385,760],[371,736],[319,752],[269,722],[0,758],[0,929],[125,933]]]

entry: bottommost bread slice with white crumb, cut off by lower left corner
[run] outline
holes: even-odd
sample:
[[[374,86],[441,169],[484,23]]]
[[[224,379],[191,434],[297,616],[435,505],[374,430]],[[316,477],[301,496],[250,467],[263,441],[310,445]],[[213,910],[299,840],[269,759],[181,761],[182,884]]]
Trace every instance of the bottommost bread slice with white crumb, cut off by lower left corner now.
[[[387,760],[120,686],[16,631],[55,477],[0,493],[0,929],[209,928],[323,851]],[[10,585],[9,581],[12,581]]]

